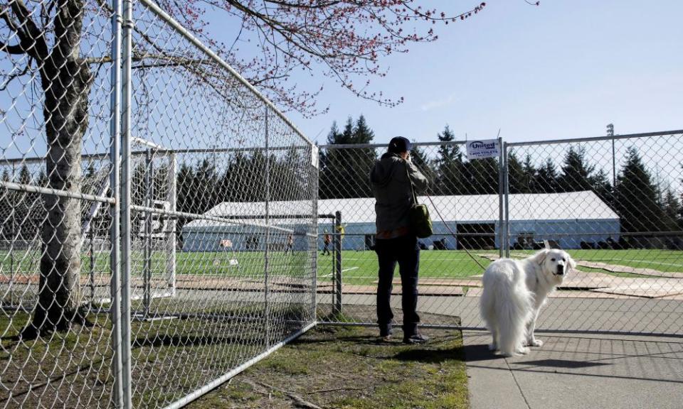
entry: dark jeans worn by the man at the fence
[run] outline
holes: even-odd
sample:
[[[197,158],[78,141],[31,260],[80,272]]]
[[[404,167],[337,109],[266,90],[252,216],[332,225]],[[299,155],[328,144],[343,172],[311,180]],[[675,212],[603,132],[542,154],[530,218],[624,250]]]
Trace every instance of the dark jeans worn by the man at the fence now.
[[[379,282],[377,285],[377,323],[380,329],[391,325],[393,312],[391,282],[393,271],[398,263],[401,273],[401,307],[403,308],[403,334],[409,337],[417,332],[420,317],[415,311],[418,307],[418,270],[420,268],[420,247],[415,236],[401,236],[396,239],[378,239],[375,252],[379,262]]]

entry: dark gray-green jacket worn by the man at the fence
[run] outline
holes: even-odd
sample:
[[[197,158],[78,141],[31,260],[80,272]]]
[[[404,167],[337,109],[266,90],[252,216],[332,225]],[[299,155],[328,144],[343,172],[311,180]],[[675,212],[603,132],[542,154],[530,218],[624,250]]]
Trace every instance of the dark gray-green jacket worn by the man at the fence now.
[[[408,172],[406,172],[406,168]],[[413,206],[411,184],[413,180],[415,195],[424,192],[428,181],[413,163],[403,160],[396,153],[385,153],[376,160],[370,171],[372,192],[375,195],[376,227],[378,233],[387,233],[393,238],[401,236],[401,231],[410,227],[409,210]]]

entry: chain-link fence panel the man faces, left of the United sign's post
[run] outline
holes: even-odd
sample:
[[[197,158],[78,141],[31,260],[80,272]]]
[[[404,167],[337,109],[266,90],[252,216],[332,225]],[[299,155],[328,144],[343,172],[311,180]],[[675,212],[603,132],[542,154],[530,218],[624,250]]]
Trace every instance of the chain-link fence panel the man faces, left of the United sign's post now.
[[[418,310],[423,326],[477,326],[476,293],[489,256],[500,254],[502,195],[500,158],[467,161],[462,142],[414,143],[413,163],[430,181],[426,203],[434,235],[420,239]],[[369,181],[374,160],[384,145],[320,147],[319,214],[337,214],[318,225],[318,313],[324,322],[374,325],[377,257],[375,200]],[[446,221],[440,221],[440,217]],[[455,233],[455,234],[451,234]],[[330,234],[332,253],[324,252]],[[463,251],[469,249],[477,261]],[[400,323],[401,280],[398,269],[391,305]],[[462,321],[461,321],[462,320]]]

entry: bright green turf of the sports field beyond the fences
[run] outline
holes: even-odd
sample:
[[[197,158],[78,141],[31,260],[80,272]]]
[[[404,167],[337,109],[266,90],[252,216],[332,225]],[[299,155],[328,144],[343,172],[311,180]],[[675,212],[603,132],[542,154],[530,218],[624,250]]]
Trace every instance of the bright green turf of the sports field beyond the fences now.
[[[477,254],[497,255],[498,251],[472,250],[477,261],[487,266],[489,261]],[[533,251],[512,251],[512,254],[526,254]],[[683,251],[672,250],[570,250],[576,260],[610,263],[633,268],[650,268],[662,272],[683,273]],[[142,271],[143,255],[132,254],[134,273]],[[238,261],[237,266],[230,264],[231,259]],[[38,253],[16,251],[0,253],[0,267],[4,275],[13,272],[15,275],[30,275],[38,271]],[[319,282],[332,280],[333,256],[318,254],[317,276]],[[109,269],[108,253],[95,256],[95,272],[107,274]],[[88,255],[83,256],[82,273],[90,272],[91,263]],[[271,251],[268,260],[270,276],[306,277],[312,269],[312,258],[305,252],[284,254],[282,251]],[[195,252],[176,253],[176,274],[211,275],[221,277],[259,277],[265,270],[265,254],[259,251],[245,252]],[[377,258],[374,251],[342,251],[342,276],[344,283],[371,285],[377,276]],[[613,276],[631,276],[630,273],[613,273],[602,269],[581,267],[583,271],[607,273]],[[166,271],[165,255],[155,252],[152,256],[152,273],[163,276]],[[482,268],[467,256],[465,251],[422,251],[420,254],[420,277],[422,278],[467,278],[482,273]]]

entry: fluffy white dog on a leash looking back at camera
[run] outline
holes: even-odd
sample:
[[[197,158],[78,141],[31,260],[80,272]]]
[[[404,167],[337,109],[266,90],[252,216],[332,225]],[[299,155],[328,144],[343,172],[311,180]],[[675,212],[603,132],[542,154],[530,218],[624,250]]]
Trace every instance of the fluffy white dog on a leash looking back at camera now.
[[[512,356],[541,347],[534,337],[536,318],[548,294],[576,263],[566,251],[542,250],[524,260],[501,258],[491,263],[482,278],[480,312],[491,331],[492,351]]]

